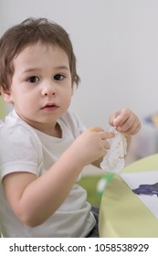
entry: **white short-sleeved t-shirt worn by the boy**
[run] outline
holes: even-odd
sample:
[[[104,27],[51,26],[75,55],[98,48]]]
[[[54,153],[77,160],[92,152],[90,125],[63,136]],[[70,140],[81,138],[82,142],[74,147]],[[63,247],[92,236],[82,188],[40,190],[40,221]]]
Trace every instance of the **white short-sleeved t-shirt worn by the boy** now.
[[[77,184],[57,211],[36,228],[17,219],[5,198],[4,176],[18,171],[42,176],[85,130],[72,112],[66,112],[58,124],[62,138],[37,131],[21,120],[15,110],[0,123],[0,226],[4,237],[86,237],[95,225],[90,203],[86,201],[87,193]]]

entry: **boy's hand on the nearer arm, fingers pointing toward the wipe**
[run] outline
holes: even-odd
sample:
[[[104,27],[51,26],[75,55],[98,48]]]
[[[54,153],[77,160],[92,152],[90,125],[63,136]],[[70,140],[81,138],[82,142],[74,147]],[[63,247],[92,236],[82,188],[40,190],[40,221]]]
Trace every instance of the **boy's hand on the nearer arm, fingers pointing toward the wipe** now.
[[[79,162],[90,165],[107,154],[110,144],[107,139],[114,137],[114,133],[105,132],[99,127],[90,128],[79,135],[71,145],[73,155],[77,155]]]

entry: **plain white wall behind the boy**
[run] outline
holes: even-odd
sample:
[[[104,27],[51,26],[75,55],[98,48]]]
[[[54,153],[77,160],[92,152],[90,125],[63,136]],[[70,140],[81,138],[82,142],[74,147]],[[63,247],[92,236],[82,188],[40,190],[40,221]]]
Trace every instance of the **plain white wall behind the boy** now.
[[[88,126],[111,112],[158,110],[157,0],[1,0],[0,33],[28,16],[65,27],[81,78],[71,108]]]

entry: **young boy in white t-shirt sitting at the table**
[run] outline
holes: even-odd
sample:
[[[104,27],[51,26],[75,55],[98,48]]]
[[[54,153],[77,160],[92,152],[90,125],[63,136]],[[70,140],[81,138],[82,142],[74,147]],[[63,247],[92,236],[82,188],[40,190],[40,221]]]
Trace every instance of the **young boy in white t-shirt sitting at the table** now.
[[[0,125],[4,237],[98,237],[76,181],[85,165],[100,165],[114,134],[85,129],[68,111],[79,76],[67,32],[47,19],[27,19],[1,37],[0,56],[1,93],[14,106]],[[141,126],[128,109],[110,123],[127,139]]]

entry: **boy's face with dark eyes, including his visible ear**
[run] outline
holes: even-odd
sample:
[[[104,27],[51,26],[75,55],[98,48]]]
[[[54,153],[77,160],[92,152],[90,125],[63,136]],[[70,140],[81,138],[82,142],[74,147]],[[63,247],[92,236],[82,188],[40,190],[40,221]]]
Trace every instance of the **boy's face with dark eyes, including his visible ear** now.
[[[38,42],[24,48],[13,63],[15,73],[5,101],[13,102],[17,114],[37,130],[43,131],[46,124],[52,129],[71,101],[67,54]]]

